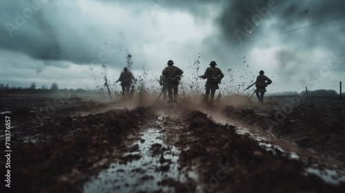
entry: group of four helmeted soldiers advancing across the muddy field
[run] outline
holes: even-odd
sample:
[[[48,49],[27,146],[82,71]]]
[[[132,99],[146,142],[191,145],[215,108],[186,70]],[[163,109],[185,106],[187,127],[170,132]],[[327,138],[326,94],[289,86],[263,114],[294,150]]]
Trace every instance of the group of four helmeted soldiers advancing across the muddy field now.
[[[168,92],[168,102],[172,103],[177,101],[179,81],[181,80],[181,75],[184,74],[184,71],[177,68],[172,60],[169,60],[167,65],[168,66],[162,71],[161,77],[159,77],[159,85],[162,87],[161,94],[163,94],[163,99],[166,100],[166,92]],[[223,79],[224,74],[216,67],[217,63],[215,61],[211,61],[209,65],[210,67],[206,69],[204,75],[199,76],[199,78],[207,79],[204,101],[206,103],[213,103],[215,99],[215,91],[219,89],[219,83],[221,83],[221,79]],[[122,96],[124,98],[129,96],[132,80],[135,80],[132,73],[128,71],[128,68],[124,68],[124,71],[121,72],[119,79],[116,81],[116,83],[121,81]],[[259,76],[257,76],[255,83],[253,83],[253,85],[255,84],[255,93],[260,103],[264,103],[264,93],[266,92],[267,85],[270,83],[272,83],[272,81],[264,75],[263,70],[260,70]],[[248,88],[250,88],[250,86]]]

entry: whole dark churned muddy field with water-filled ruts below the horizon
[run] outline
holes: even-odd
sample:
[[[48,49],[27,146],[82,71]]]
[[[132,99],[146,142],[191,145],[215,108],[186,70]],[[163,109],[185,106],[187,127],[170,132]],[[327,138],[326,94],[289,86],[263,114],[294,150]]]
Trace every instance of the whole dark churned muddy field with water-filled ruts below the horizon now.
[[[150,98],[0,94],[1,190],[345,192],[344,100]]]

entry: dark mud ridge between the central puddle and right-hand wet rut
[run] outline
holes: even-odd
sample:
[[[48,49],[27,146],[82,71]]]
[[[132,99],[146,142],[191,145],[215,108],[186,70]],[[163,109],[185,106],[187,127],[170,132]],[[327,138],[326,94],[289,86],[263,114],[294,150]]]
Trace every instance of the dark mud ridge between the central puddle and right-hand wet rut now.
[[[308,164],[289,159],[278,148],[266,151],[257,141],[239,135],[231,125],[219,125],[202,112],[186,119],[181,164],[200,175],[197,192],[342,192],[345,184],[328,185],[306,174]]]

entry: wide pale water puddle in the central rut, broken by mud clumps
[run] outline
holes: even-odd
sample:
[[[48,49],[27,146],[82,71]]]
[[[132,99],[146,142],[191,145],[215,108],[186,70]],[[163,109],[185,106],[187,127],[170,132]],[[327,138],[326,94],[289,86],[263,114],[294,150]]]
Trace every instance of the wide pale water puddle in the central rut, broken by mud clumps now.
[[[179,150],[164,143],[164,130],[149,128],[139,134],[130,152],[84,185],[84,192],[175,192],[163,179],[184,183],[196,175],[181,172]]]

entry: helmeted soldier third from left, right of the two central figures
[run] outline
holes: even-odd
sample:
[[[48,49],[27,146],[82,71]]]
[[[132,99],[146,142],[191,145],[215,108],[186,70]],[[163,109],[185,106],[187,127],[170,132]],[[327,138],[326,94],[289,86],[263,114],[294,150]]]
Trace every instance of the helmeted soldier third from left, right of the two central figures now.
[[[213,99],[215,99],[215,90],[219,89],[218,84],[221,83],[221,79],[223,79],[224,74],[221,70],[215,67],[217,63],[215,61],[210,62],[210,67],[208,67],[204,73],[204,75],[199,76],[199,78],[207,79],[206,81],[206,93],[205,93],[205,101],[208,103],[208,95],[211,92],[211,99],[210,103],[213,103]]]

